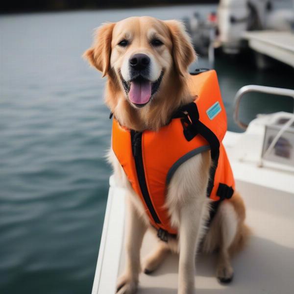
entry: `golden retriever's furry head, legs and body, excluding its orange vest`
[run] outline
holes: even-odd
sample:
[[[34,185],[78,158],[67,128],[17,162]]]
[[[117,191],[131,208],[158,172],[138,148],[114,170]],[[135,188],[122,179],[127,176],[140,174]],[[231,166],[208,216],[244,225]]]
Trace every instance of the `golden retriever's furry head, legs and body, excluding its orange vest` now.
[[[131,17],[101,25],[84,57],[107,77],[105,102],[126,128],[157,131],[170,121],[176,109],[195,99],[187,81],[188,66],[196,59],[196,53],[178,21]],[[244,202],[236,192],[221,202],[209,228],[205,227],[210,209],[206,196],[212,164],[210,151],[197,154],[175,172],[166,205],[178,236],[168,243],[158,241],[142,263],[143,237],[147,228],[155,233],[156,230],[149,225],[143,204],[112,150],[109,159],[116,181],[127,190],[126,266],[118,279],[117,293],[136,293],[141,270],[156,270],[171,251],[179,253],[178,294],[194,293],[196,251],[200,244],[203,251],[217,250],[216,275],[221,282],[229,282],[233,277],[230,258],[242,248],[249,230],[244,223]]]

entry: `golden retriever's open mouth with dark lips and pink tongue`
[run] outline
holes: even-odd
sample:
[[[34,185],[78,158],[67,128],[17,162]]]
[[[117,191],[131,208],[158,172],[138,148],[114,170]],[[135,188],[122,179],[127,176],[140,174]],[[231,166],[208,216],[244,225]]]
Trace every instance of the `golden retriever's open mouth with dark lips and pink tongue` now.
[[[159,89],[163,74],[164,71],[160,73],[159,78],[153,83],[141,75],[126,82],[121,75],[123,87],[130,102],[137,107],[145,106]]]

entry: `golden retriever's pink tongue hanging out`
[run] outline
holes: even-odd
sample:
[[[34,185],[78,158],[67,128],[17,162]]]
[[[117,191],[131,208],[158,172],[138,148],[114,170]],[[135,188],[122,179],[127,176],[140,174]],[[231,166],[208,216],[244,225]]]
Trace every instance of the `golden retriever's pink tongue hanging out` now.
[[[151,97],[151,83],[148,81],[131,82],[129,99],[136,104],[145,104]]]

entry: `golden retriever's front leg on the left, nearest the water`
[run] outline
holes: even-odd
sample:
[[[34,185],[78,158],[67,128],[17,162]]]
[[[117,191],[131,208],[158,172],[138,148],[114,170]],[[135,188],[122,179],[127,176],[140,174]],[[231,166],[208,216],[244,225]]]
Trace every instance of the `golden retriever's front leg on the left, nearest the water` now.
[[[126,197],[126,265],[123,275],[118,279],[117,294],[134,294],[137,291],[141,271],[140,249],[147,230],[146,223],[139,216],[129,197]]]

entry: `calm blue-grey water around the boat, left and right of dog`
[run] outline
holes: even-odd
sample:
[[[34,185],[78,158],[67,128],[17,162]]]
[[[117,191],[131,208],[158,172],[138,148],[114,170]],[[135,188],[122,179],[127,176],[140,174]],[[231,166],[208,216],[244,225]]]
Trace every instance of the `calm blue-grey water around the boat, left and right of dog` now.
[[[0,17],[0,293],[90,293],[111,173],[104,81],[80,56],[93,28],[132,15],[182,18],[214,6]],[[200,59],[200,66],[207,66]],[[232,99],[245,84],[293,88],[293,72],[258,72],[242,59],[216,69],[232,121]],[[252,102],[252,101],[251,101]],[[277,105],[278,104],[278,105]],[[290,100],[244,103],[290,109]]]

